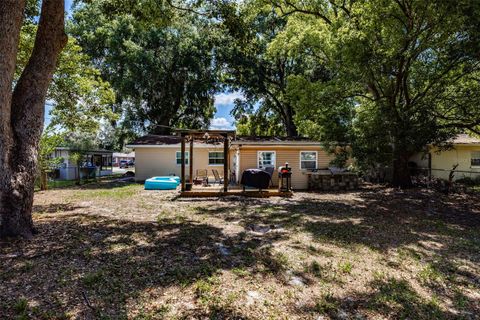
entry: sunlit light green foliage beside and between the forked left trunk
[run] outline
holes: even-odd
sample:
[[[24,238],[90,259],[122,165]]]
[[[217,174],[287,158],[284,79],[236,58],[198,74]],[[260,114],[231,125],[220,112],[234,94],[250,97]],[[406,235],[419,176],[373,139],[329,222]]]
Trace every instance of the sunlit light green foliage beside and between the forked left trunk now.
[[[36,32],[34,20],[28,20],[22,26],[15,73],[17,79],[28,63]],[[53,105],[50,125],[62,130],[96,131],[101,121],[117,118],[111,109],[115,101],[114,92],[72,37],[60,54],[47,100]]]

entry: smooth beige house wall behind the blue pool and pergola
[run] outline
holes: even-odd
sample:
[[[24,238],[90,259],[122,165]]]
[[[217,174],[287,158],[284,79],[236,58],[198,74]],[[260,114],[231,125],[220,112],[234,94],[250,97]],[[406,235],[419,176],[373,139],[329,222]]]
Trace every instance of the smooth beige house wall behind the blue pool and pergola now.
[[[189,150],[187,145],[186,151]],[[180,176],[181,166],[176,163],[176,152],[180,151],[178,147],[139,147],[135,148],[135,180],[144,181],[155,176],[168,176],[175,174]],[[223,165],[209,165],[208,152],[223,152],[223,146],[212,148],[194,148],[193,149],[193,174],[197,169],[208,169],[209,176],[213,179],[212,169],[217,169],[223,176]],[[232,161],[233,153],[229,153]],[[232,162],[230,162],[232,163]],[[185,174],[189,176],[190,167],[185,166]]]

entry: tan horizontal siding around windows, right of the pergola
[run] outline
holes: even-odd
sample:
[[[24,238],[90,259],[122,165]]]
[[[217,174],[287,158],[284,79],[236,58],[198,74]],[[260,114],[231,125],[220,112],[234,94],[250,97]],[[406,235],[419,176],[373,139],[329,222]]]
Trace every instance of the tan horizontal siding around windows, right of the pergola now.
[[[296,190],[307,189],[308,179],[305,170],[300,169],[300,152],[317,151],[317,168],[328,167],[333,156],[327,154],[320,146],[241,146],[240,147],[240,172],[245,169],[258,168],[258,152],[275,151],[275,169],[279,166],[288,165],[292,168],[292,188]],[[278,186],[278,171],[275,170],[273,184]]]

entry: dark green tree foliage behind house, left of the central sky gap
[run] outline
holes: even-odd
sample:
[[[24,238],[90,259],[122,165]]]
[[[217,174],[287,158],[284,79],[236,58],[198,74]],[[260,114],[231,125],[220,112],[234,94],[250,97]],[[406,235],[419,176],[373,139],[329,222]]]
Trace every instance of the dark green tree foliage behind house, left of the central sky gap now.
[[[146,4],[152,10],[143,2],[92,1],[73,14],[72,33],[116,92],[119,135],[206,128],[217,86],[216,34],[202,16]]]

